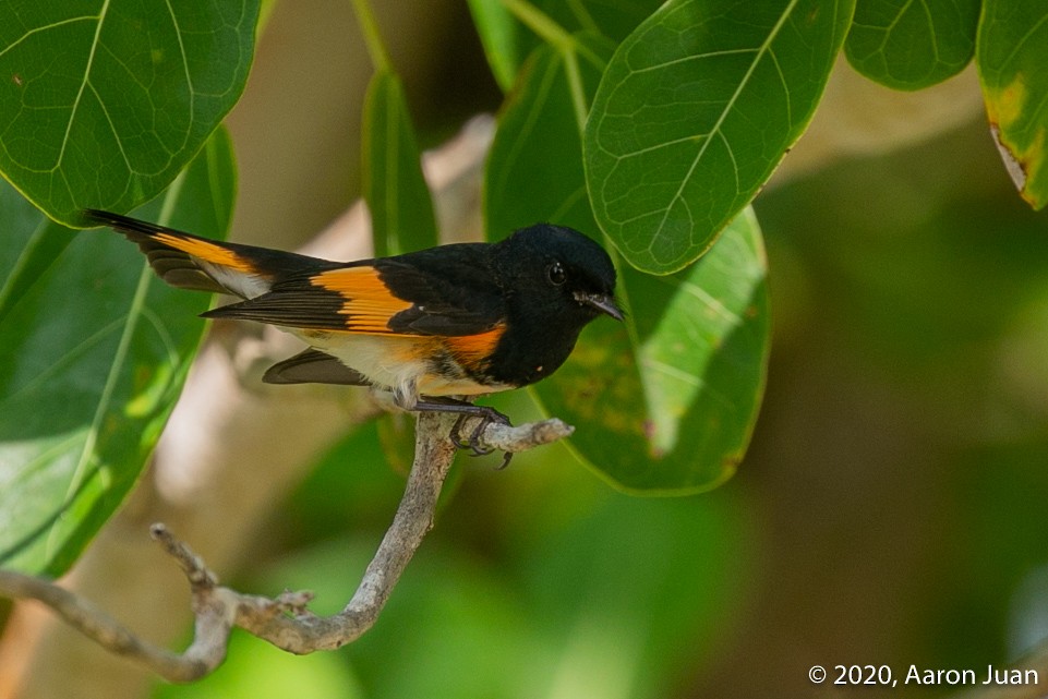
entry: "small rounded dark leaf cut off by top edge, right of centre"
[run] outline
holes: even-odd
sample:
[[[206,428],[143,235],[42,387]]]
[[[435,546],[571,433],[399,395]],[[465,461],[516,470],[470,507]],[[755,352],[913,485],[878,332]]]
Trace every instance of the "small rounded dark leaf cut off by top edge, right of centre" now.
[[[844,50],[855,70],[896,89],[955,75],[975,52],[980,0],[856,0]]]

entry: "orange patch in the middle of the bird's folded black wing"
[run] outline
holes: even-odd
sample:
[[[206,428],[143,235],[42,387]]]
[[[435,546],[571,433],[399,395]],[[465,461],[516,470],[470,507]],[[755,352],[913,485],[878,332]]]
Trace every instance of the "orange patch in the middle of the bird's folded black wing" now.
[[[310,280],[344,299],[339,313],[350,333],[390,334],[389,318],[414,304],[393,296],[374,267],[344,267],[322,272]]]

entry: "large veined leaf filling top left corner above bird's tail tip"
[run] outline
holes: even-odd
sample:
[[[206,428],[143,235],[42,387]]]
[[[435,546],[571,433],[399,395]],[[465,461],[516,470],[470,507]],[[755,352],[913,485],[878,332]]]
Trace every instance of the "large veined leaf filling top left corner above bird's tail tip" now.
[[[51,218],[155,197],[240,97],[257,0],[0,3],[0,171]]]

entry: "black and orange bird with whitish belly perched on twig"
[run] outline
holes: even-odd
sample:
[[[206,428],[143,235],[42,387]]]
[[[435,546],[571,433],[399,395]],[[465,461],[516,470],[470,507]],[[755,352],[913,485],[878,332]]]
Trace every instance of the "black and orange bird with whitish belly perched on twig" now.
[[[370,386],[402,410],[459,413],[451,438],[474,454],[485,453],[477,438],[490,422],[509,420],[465,398],[545,378],[590,321],[623,320],[607,253],[561,226],[340,263],[85,215],[137,243],[169,285],[243,299],[204,317],[268,323],[305,340],[309,349],[270,366],[264,382]],[[470,415],[481,422],[462,439]]]

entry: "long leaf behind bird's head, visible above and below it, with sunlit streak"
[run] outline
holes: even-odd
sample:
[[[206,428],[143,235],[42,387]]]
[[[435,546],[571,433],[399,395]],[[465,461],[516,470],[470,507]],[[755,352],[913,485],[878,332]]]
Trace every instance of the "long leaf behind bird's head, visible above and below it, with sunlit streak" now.
[[[574,41],[570,53],[538,49],[503,110],[487,167],[491,237],[537,220],[597,230],[573,85],[592,93],[610,47]],[[591,324],[535,393],[577,426],[575,453],[619,487],[712,487],[742,458],[763,390],[769,322],[756,221],[740,216],[706,258],[674,276],[619,267],[626,324]]]

